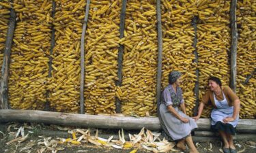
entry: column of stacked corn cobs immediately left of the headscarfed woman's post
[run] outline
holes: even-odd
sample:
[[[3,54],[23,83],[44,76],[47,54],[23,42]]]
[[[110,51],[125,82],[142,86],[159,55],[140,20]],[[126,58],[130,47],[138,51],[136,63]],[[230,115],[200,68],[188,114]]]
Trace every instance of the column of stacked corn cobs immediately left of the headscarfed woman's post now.
[[[156,115],[155,1],[128,1],[125,25],[124,38],[119,41],[124,45],[122,86],[117,87],[122,113]]]

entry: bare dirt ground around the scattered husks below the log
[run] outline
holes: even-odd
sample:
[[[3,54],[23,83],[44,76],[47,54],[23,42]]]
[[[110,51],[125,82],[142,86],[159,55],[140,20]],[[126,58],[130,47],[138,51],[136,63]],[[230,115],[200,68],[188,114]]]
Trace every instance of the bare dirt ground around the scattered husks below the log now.
[[[11,125],[11,126],[10,126]],[[14,126],[12,126],[14,125]],[[24,125],[24,124],[23,124]],[[43,125],[44,126],[44,125]],[[62,131],[60,133],[57,133],[53,131],[53,126],[40,126],[38,128],[38,125],[33,125],[33,129],[27,129],[25,130],[25,135],[29,133],[29,136],[25,141],[18,142],[15,141],[14,143],[11,143],[7,145],[6,143],[12,141],[16,137],[16,133],[20,127],[20,124],[17,123],[8,123],[8,124],[1,124],[0,127],[0,152],[7,152],[7,153],[14,153],[14,152],[56,152],[57,149],[59,149],[57,152],[67,152],[67,153],[73,153],[73,152],[89,152],[89,153],[102,153],[102,152],[122,152],[122,153],[129,153],[134,149],[137,149],[138,153],[144,153],[144,152],[152,152],[149,150],[145,150],[144,148],[130,148],[130,149],[115,149],[112,147],[106,147],[106,146],[96,146],[94,144],[85,142],[81,145],[74,145],[71,143],[57,143],[55,146],[49,146],[48,148],[44,144],[44,140],[46,139],[47,142],[53,141],[53,140],[59,140],[59,137],[67,138],[70,135],[65,135],[67,133],[67,129],[70,129],[70,127],[64,127],[61,126],[61,129],[58,128],[59,131]],[[31,127],[31,126],[29,126]],[[36,128],[35,128],[36,127]],[[59,126],[58,126],[59,127]],[[26,129],[26,128],[25,128]],[[40,129],[40,130],[38,130]],[[71,128],[72,129],[72,128]],[[29,132],[27,132],[29,131]],[[46,131],[46,133],[40,133],[40,131]],[[134,133],[137,133],[138,131],[133,131]],[[64,134],[61,134],[64,133]],[[113,130],[100,130],[99,136],[101,134],[117,134],[117,131]],[[49,137],[53,135],[53,137]],[[18,136],[19,137],[19,136]],[[44,140],[43,140],[44,139]],[[256,153],[256,139],[239,139],[234,141],[236,144],[236,148],[238,152],[244,152],[244,153]],[[221,152],[221,144],[222,142],[219,140],[205,140],[200,142],[195,142],[197,146],[197,150],[199,150],[200,153],[218,153]],[[52,150],[54,148],[54,151]],[[175,151],[169,151],[169,152],[181,152],[177,148],[173,148]],[[188,152],[186,150],[185,152]]]

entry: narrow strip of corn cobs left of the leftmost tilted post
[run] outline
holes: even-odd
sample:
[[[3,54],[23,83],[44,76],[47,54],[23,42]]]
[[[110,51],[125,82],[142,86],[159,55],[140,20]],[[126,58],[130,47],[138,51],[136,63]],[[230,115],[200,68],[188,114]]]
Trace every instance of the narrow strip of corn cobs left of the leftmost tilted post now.
[[[0,2],[0,65],[3,65],[3,52],[5,48],[6,33],[10,18],[10,3],[8,1]],[[0,71],[1,76],[1,71]]]

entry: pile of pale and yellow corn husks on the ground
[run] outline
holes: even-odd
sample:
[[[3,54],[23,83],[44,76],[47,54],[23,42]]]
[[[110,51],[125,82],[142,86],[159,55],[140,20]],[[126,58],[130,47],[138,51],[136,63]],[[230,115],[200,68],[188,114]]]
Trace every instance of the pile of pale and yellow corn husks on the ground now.
[[[130,141],[124,139],[124,131],[120,130],[118,135],[119,139],[113,139],[113,136],[108,139],[104,139],[98,135],[98,130],[96,135],[91,135],[89,130],[84,129],[74,129],[69,131],[72,137],[67,139],[60,139],[59,143],[70,143],[73,145],[83,145],[83,143],[92,143],[96,146],[113,147],[116,149],[131,149],[132,152],[136,152],[138,148],[143,148],[152,152],[168,152],[173,150],[175,143],[171,143],[165,139],[160,140],[160,133],[153,133],[152,131],[143,128],[141,132],[137,135],[129,134]]]

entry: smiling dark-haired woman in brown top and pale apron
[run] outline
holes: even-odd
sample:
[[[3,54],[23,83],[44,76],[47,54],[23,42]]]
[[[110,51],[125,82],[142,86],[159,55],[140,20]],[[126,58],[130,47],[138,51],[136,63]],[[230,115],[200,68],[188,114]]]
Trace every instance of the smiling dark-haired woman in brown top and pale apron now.
[[[240,100],[228,86],[221,86],[221,80],[216,77],[208,79],[210,90],[203,96],[199,105],[198,115],[193,117],[198,120],[203,111],[203,106],[210,103],[212,109],[212,129],[218,131],[223,139],[223,152],[235,153],[233,136],[236,134],[240,112]]]

